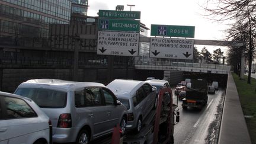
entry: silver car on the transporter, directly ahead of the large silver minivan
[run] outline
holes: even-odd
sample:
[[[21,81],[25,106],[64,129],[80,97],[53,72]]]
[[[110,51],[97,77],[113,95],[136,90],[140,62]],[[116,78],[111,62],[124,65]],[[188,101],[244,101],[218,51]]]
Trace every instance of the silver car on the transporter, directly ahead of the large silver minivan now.
[[[156,89],[148,82],[126,79],[115,79],[107,87],[127,107],[127,130],[140,132],[143,120],[153,108],[156,108]]]

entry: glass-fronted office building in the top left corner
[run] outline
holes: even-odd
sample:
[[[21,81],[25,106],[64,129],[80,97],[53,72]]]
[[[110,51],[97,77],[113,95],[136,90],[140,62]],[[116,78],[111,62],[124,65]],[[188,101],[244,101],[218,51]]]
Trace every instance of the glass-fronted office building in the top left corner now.
[[[1,0],[0,14],[0,38],[17,45],[19,37],[48,37],[49,24],[69,24],[71,0]]]

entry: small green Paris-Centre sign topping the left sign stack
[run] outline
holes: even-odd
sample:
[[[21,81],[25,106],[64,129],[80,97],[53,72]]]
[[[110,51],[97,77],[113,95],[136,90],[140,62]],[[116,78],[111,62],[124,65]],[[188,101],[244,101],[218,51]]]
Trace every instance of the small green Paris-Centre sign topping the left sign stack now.
[[[100,18],[140,19],[140,11],[99,10]]]

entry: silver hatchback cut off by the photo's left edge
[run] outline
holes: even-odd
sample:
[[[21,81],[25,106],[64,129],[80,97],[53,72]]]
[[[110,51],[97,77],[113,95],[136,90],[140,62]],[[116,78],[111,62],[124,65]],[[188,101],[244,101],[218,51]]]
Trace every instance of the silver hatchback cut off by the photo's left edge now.
[[[52,143],[52,123],[30,98],[0,92],[0,143]]]

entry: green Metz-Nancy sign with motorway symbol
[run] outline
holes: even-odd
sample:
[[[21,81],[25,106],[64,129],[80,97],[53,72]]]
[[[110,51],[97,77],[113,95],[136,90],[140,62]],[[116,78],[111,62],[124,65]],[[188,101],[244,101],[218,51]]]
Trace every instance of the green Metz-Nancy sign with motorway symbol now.
[[[99,18],[98,29],[104,31],[135,31],[140,30],[140,21]]]

